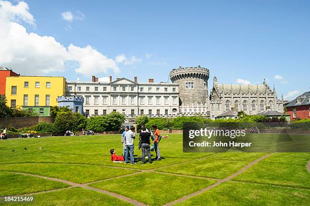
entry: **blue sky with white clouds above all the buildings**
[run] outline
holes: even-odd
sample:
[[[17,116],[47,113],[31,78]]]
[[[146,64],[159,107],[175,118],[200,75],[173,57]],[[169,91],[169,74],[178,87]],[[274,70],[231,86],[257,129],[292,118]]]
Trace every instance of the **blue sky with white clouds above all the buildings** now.
[[[21,75],[167,82],[208,68],[219,84],[310,90],[310,1],[2,1],[0,66]],[[171,82],[171,81],[170,81]]]

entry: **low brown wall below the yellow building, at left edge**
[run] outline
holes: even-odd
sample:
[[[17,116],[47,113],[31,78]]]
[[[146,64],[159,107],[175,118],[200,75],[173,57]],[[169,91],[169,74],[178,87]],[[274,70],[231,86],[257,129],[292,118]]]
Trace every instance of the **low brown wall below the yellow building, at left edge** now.
[[[16,129],[33,126],[40,122],[53,123],[52,117],[12,117],[12,118],[0,118],[0,128],[12,126]]]

